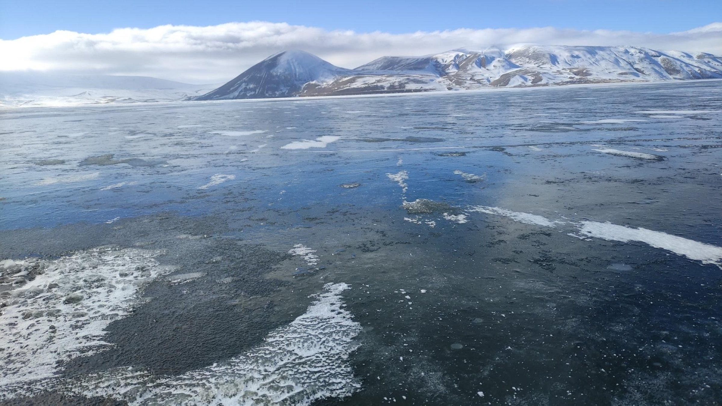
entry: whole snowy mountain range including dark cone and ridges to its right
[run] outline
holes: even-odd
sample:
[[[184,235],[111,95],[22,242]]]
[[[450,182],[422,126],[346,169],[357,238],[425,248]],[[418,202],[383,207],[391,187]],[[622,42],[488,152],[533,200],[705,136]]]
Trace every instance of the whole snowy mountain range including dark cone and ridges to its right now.
[[[458,49],[428,56],[384,56],[356,69],[288,51],[270,56],[194,100],[710,78],[722,78],[721,57],[632,46]]]

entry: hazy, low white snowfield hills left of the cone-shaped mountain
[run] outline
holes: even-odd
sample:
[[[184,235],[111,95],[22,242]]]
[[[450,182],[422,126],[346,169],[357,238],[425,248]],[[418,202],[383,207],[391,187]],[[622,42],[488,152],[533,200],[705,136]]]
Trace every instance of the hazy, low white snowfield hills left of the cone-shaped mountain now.
[[[183,100],[218,85],[142,76],[0,72],[0,106],[80,105]]]

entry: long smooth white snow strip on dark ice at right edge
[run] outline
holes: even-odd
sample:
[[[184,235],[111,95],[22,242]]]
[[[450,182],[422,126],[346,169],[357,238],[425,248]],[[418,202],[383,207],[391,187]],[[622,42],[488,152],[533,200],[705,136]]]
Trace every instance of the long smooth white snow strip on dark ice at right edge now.
[[[596,223],[583,221],[580,233],[586,236],[603,238],[609,241],[640,241],[659,249],[666,249],[674,254],[687,256],[689,259],[701,261],[703,264],[722,266],[722,247],[688,240],[660,231],[646,228],[630,228],[612,223]]]

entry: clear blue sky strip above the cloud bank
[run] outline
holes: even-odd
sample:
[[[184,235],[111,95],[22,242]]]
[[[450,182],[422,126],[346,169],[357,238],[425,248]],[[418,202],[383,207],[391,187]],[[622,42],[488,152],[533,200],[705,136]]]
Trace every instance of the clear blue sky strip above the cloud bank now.
[[[722,20],[722,0],[0,0],[4,40],[55,30],[107,33],[254,20],[386,33],[547,26],[670,33]]]

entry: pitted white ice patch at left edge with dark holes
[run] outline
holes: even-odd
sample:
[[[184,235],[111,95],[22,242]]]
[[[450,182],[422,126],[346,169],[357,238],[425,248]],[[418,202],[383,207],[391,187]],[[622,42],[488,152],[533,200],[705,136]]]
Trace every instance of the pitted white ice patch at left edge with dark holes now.
[[[173,270],[157,264],[160,254],[99,248],[17,261],[40,275],[7,292],[0,316],[0,387],[48,378],[62,361],[107,348],[105,327],[131,313],[147,282]]]

